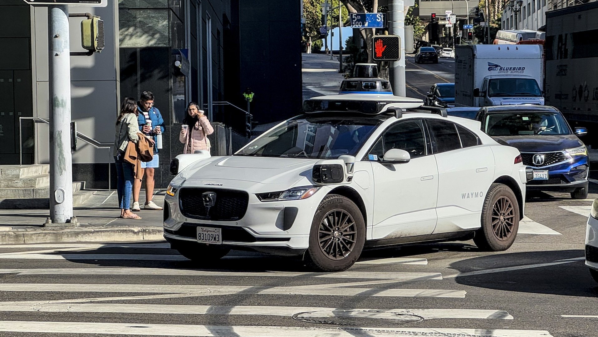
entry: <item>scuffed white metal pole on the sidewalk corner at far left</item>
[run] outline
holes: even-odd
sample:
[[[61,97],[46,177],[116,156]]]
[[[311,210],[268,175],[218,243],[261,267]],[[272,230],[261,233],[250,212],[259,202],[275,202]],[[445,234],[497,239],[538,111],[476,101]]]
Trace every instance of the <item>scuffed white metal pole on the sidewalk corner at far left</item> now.
[[[58,225],[71,222],[73,216],[69,42],[68,6],[48,6],[50,219]]]

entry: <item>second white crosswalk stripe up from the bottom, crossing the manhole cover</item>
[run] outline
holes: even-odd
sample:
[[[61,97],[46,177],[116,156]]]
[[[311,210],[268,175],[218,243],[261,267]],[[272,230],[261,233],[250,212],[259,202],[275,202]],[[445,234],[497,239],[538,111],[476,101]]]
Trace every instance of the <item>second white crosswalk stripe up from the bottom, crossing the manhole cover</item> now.
[[[41,311],[61,313],[135,313],[135,314],[197,314],[197,315],[274,315],[293,317],[358,317],[387,320],[414,320],[435,318],[494,318],[512,320],[504,310],[477,309],[340,309],[320,307],[277,306],[213,306],[170,304],[0,304],[0,311]]]

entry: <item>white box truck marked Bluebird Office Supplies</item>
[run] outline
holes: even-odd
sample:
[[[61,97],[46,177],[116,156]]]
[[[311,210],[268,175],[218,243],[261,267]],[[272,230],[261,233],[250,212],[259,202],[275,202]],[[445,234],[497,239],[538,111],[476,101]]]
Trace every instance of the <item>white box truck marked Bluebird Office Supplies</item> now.
[[[544,105],[541,45],[458,45],[455,106]]]

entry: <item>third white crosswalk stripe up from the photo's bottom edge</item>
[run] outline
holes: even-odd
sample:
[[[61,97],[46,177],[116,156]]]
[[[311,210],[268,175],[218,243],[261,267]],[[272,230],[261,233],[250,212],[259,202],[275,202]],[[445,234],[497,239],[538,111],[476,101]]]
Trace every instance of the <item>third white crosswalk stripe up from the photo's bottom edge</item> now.
[[[295,287],[205,286],[172,284],[75,284],[75,283],[0,283],[0,292],[109,292],[109,293],[197,293],[196,296],[238,293],[268,295],[382,296],[465,298],[465,290],[446,289],[370,289],[327,287],[325,284]]]

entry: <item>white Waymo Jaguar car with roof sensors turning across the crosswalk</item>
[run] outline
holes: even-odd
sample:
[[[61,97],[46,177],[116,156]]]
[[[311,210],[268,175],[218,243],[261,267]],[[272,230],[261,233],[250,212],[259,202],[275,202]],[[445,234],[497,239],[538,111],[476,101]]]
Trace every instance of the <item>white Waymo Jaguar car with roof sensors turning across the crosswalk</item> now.
[[[473,238],[508,249],[532,172],[480,122],[422,105],[314,97],[234,155],[179,155],[164,237],[198,262],[254,250],[321,271],[349,268],[364,247]]]

